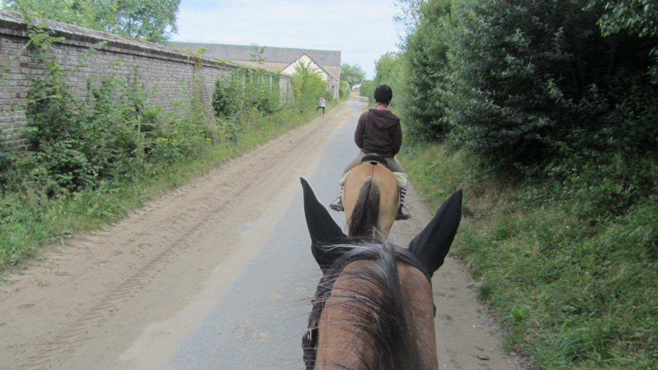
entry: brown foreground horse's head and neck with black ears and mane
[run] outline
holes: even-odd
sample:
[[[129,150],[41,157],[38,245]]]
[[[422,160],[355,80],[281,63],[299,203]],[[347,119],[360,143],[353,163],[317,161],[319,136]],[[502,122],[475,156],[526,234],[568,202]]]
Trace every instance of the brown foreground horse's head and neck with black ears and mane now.
[[[301,179],[322,279],[302,338],[307,370],[438,370],[430,278],[461,219],[453,194],[409,248],[343,234]]]

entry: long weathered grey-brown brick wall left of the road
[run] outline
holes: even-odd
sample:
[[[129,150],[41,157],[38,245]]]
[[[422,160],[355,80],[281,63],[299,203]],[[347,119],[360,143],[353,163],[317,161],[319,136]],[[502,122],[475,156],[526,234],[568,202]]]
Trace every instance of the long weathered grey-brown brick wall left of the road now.
[[[177,102],[189,101],[194,85],[201,102],[211,115],[211,101],[217,78],[228,78],[237,65],[191,55],[145,41],[124,38],[70,24],[46,21],[44,28],[63,41],[53,44],[51,54],[70,70],[68,82],[81,95],[86,95],[91,78],[97,83],[103,76],[138,76],[145,86],[147,103],[172,109]],[[0,66],[8,70],[0,74],[0,140],[14,147],[28,147],[20,128],[26,123],[24,103],[30,89],[30,76],[40,74],[45,66],[30,53],[18,53],[29,41],[28,26],[16,13],[0,11]],[[103,43],[98,46],[99,43]],[[97,45],[93,53],[89,48]],[[291,96],[290,77],[280,78],[282,100]]]

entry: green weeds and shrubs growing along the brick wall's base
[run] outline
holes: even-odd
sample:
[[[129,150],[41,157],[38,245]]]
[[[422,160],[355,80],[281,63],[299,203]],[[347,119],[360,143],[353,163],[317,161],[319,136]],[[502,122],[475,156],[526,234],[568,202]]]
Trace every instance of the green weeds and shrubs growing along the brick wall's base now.
[[[0,269],[307,122],[316,115],[314,97],[326,91],[315,74],[295,75],[294,102],[282,104],[278,74],[243,68],[218,81],[216,117],[207,117],[196,91],[164,109],[147,104],[138,70],[127,79],[92,77],[86,92],[74,90],[72,71],[50,53],[59,39],[38,29],[31,36],[24,53],[46,70],[32,76],[21,107],[33,150],[0,140]]]

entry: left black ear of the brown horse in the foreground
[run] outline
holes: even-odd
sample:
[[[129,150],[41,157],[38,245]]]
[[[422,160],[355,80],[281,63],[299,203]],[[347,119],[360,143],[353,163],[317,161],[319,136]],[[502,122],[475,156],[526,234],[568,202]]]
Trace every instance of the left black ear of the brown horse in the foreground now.
[[[349,244],[349,238],[331,218],[326,208],[315,198],[315,193],[309,183],[304,178],[299,178],[299,180],[301,180],[301,187],[304,190],[304,213],[306,225],[311,234],[311,253],[324,272],[345,251],[345,248],[335,246]]]

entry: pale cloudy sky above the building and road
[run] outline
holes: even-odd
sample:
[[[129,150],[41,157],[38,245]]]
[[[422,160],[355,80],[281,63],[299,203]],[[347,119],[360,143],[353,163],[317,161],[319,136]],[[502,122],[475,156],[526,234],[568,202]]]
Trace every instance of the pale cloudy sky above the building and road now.
[[[397,51],[395,13],[392,0],[182,0],[171,40],[340,50],[372,78]]]

